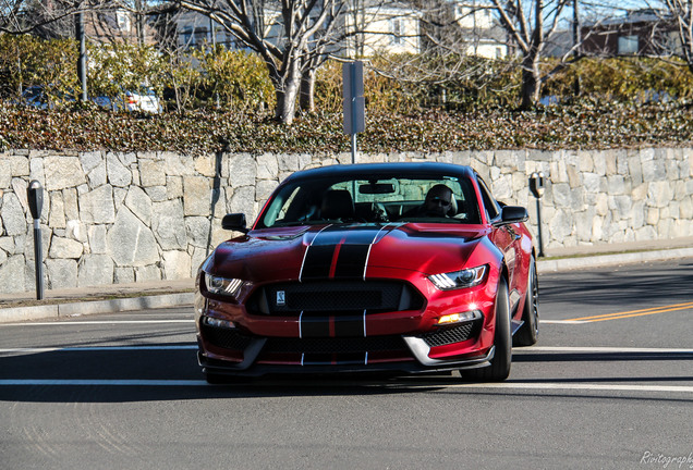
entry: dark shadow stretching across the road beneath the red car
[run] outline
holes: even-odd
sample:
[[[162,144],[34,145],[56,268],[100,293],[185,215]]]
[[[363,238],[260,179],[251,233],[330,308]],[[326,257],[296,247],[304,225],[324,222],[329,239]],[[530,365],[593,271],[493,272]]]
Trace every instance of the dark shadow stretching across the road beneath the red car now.
[[[233,379],[228,385],[207,385],[197,364],[194,344],[165,345],[169,349],[52,350],[0,357],[0,400],[17,403],[127,403],[167,400],[206,400],[271,397],[375,396],[389,394],[454,393],[470,395],[524,395],[519,387],[489,388],[465,381],[455,373],[396,375],[291,374],[258,379]],[[530,352],[530,351],[527,351]],[[676,352],[560,352],[520,354],[515,362],[551,361],[652,361],[692,360],[691,355]],[[13,384],[13,381],[19,381]],[[21,382],[26,381],[26,382]],[[54,383],[51,383],[54,381]],[[83,381],[72,384],[72,381]],[[95,383],[90,383],[95,382]],[[101,381],[99,384],[98,381]],[[112,382],[104,384],[102,381]],[[153,384],[150,381],[159,381]],[[168,385],[166,382],[171,381]],[[122,382],[122,383],[119,383]],[[142,384],[138,384],[142,382]],[[670,383],[693,382],[693,376],[646,378],[557,378],[510,380],[521,383]],[[149,383],[149,385],[147,385]],[[460,385],[463,385],[462,387]],[[558,394],[570,397],[594,397],[580,391],[542,391],[528,395]],[[611,395],[604,395],[613,398]],[[622,397],[623,398],[623,397]],[[628,396],[625,397],[628,398]],[[642,399],[637,394],[633,399]],[[651,398],[648,398],[651,399]],[[653,397],[652,399],[659,399]],[[669,399],[661,397],[661,399]],[[682,398],[691,401],[688,398]]]

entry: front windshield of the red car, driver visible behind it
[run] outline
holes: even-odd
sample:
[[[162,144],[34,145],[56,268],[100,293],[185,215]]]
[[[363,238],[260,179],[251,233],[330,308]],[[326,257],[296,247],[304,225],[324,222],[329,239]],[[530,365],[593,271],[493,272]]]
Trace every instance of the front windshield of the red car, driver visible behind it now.
[[[257,228],[354,222],[479,224],[478,203],[467,178],[319,178],[277,191]]]

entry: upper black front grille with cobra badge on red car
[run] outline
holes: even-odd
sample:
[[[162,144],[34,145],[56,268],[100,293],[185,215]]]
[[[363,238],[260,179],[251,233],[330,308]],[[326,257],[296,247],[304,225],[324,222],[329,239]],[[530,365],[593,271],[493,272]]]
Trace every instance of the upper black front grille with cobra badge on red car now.
[[[318,281],[279,283],[259,288],[247,302],[251,313],[297,316],[301,312],[377,313],[420,310],[422,295],[397,281]]]

